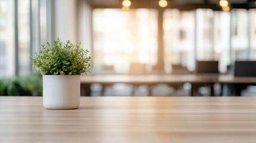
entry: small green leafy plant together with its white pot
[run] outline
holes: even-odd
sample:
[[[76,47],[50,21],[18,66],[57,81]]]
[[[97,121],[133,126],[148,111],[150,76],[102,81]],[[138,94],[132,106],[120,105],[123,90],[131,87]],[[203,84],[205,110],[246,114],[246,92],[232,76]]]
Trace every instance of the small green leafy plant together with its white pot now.
[[[57,38],[47,42],[32,59],[36,72],[43,75],[43,102],[48,109],[72,109],[80,104],[80,76],[90,72],[88,49],[63,43]]]

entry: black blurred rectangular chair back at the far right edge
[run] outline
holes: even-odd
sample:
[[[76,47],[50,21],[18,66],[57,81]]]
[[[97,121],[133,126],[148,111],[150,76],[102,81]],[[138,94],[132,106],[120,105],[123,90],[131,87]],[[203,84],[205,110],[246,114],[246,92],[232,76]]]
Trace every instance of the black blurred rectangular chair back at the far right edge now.
[[[256,76],[256,61],[235,61],[234,76]]]

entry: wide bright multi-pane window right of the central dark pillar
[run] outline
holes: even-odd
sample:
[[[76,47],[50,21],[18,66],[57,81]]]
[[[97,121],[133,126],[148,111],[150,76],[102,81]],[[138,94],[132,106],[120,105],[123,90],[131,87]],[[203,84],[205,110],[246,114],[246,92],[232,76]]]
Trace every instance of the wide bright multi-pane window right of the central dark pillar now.
[[[230,13],[165,10],[164,46],[166,71],[171,64],[193,71],[195,60],[218,60],[219,70],[225,72],[230,64]]]

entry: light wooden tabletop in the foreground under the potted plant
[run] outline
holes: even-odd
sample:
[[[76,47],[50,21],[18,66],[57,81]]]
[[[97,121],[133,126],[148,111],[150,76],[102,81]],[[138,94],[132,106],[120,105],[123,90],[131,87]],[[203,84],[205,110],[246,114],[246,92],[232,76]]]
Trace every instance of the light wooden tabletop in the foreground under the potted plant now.
[[[0,97],[0,142],[255,142],[255,97],[82,97],[47,110],[42,97]]]

